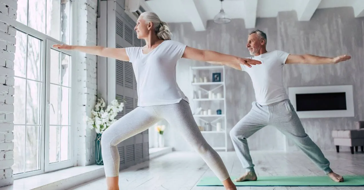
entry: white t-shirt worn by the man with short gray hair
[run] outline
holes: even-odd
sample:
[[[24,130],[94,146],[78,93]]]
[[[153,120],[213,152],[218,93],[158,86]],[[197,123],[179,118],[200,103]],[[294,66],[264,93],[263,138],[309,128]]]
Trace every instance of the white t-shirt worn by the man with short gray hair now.
[[[275,50],[259,56],[247,57],[261,61],[260,65],[249,68],[241,64],[241,69],[252,78],[256,101],[260,105],[273,104],[288,99],[283,85],[283,65],[289,53]]]

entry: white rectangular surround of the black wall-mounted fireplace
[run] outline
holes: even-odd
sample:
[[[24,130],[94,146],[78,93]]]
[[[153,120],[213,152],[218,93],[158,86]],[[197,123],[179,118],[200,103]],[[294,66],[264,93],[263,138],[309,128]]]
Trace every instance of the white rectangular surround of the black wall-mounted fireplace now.
[[[296,94],[309,93],[340,93],[345,92],[347,110],[327,110],[327,111],[296,111],[299,118],[326,118],[326,117],[354,117],[354,100],[352,85],[334,86],[302,86],[289,87],[288,96],[295,110]]]

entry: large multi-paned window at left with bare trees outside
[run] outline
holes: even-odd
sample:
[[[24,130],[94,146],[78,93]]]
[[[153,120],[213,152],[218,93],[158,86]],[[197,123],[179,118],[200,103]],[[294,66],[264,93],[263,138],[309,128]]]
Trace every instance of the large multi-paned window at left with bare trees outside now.
[[[70,167],[72,0],[18,0],[16,33],[15,178]]]

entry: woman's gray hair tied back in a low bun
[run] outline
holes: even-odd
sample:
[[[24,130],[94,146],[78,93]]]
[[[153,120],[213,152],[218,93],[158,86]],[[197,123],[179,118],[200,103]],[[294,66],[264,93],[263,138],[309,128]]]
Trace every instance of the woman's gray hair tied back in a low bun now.
[[[166,22],[161,21],[161,19],[159,19],[158,15],[155,14],[154,12],[143,12],[140,15],[144,20],[145,23],[153,23],[154,25],[154,32],[155,34],[158,36],[159,39],[162,40],[170,40],[172,33],[169,30],[169,26]]]

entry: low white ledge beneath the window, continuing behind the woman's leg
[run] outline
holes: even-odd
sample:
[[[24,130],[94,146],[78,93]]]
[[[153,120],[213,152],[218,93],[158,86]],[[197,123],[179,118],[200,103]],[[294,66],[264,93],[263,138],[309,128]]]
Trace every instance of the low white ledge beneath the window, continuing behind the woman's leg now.
[[[170,152],[172,152],[172,147],[150,148],[149,159]],[[105,176],[103,165],[75,166],[45,174],[15,179],[13,185],[0,187],[0,190],[70,189],[103,176]]]

